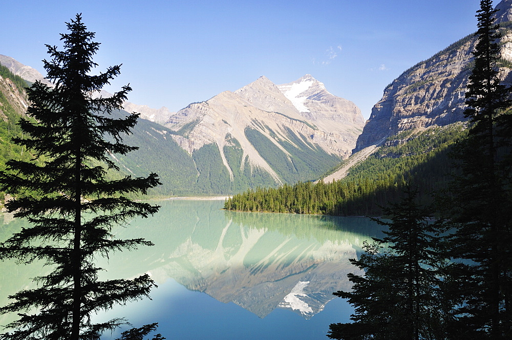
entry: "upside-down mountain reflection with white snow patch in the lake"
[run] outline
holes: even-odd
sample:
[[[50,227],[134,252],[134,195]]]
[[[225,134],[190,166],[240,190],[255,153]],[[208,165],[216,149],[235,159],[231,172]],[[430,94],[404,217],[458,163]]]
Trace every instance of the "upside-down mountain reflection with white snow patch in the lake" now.
[[[347,274],[359,272],[349,259],[358,257],[363,241],[380,237],[380,227],[366,218],[238,213],[221,210],[222,203],[158,201],[162,208],[154,217],[115,229],[118,238],[144,237],[155,245],[99,258],[106,269],[100,279],[149,273],[158,285],[174,279],[260,318],[282,308],[309,319],[334,298],[332,292],[350,288]],[[6,218],[2,240],[22,224]],[[30,287],[29,278],[41,274],[37,264],[0,266],[2,305],[7,294]]]

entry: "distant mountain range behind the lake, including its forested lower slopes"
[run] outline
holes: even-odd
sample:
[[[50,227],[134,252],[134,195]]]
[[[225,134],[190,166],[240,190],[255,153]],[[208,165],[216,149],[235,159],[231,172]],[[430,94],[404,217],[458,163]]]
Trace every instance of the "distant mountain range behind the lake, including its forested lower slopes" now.
[[[1,60],[31,82],[44,80],[13,58]],[[349,156],[364,124],[353,103],[333,96],[310,75],[283,85],[261,77],[178,112],[123,106],[141,114],[125,138],[139,150],[113,157],[122,173],[158,173],[164,185],[153,195],[232,194],[317,179]],[[17,109],[18,115],[24,111]]]

